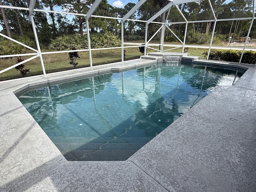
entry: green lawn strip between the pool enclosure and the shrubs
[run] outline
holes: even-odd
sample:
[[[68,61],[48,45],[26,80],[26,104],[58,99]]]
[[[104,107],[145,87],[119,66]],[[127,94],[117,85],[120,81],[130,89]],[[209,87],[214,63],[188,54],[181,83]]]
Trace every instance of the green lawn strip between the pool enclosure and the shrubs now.
[[[154,47],[154,48],[158,48],[158,47]],[[165,47],[164,49],[167,50],[170,48],[171,47]],[[126,50],[125,60],[140,58],[140,56],[142,55],[139,52],[138,47],[124,48],[124,50]],[[201,49],[201,48],[189,48],[188,52],[190,55],[200,56],[204,58],[202,53],[205,50],[206,49]],[[42,52],[49,52],[49,51],[50,50],[42,50]],[[147,52],[156,52],[156,51],[148,48]],[[170,52],[182,52],[182,48],[173,49],[173,50],[170,50]],[[78,52],[78,54],[80,58],[76,60],[76,62],[78,62],[78,66],[76,66],[76,68],[89,67],[90,66],[89,53]],[[68,53],[44,54],[42,57],[43,57],[46,73],[74,69],[74,66],[69,64]],[[121,61],[121,57],[122,57],[121,49],[92,50],[93,66],[119,62]],[[22,57],[22,58],[26,59],[26,58],[29,58],[29,56]],[[1,59],[0,70],[3,70],[5,68],[8,68],[9,66],[16,64],[16,60],[17,60],[16,58]],[[25,65],[25,69],[30,69],[30,73],[27,73],[26,76],[35,76],[35,75],[43,74],[42,66],[40,64],[40,58],[36,58],[34,60],[26,62],[24,65]],[[22,75],[15,68],[12,68],[0,74],[0,81],[10,80],[15,78],[22,78]]]

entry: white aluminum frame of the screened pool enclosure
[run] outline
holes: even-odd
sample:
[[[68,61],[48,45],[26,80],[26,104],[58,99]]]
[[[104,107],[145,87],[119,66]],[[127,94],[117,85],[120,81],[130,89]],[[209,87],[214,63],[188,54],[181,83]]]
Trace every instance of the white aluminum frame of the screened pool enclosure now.
[[[256,19],[255,17],[255,0],[253,0],[253,16],[252,17],[249,17],[249,18],[227,18],[227,19],[217,19],[215,14],[214,14],[214,9],[212,8],[212,4],[210,2],[210,0],[208,0],[209,2],[209,5],[210,5],[210,8],[212,10],[212,14],[214,16],[214,19],[213,20],[197,20],[197,21],[188,21],[186,19],[186,17],[184,16],[184,14],[182,14],[181,10],[178,8],[177,4],[183,4],[183,3],[189,3],[189,2],[196,2],[197,0],[169,0],[170,3],[168,3],[164,8],[162,8],[160,11],[158,11],[154,16],[152,16],[150,19],[144,21],[144,20],[133,20],[133,19],[128,19],[134,12],[136,12],[136,10],[138,10],[138,8],[140,6],[142,6],[146,0],[139,0],[137,2],[137,4],[123,17],[123,18],[115,18],[115,17],[107,17],[107,16],[97,16],[97,15],[92,15],[93,12],[96,10],[96,8],[98,7],[98,5],[100,4],[100,2],[102,0],[95,0],[94,4],[92,4],[92,7],[88,10],[87,14],[77,14],[77,13],[69,13],[69,12],[60,12],[60,11],[50,11],[50,10],[40,10],[40,9],[34,9],[34,6],[35,6],[35,1],[36,0],[30,0],[30,4],[29,4],[29,8],[24,8],[24,7],[14,7],[14,6],[0,6],[2,8],[8,8],[8,9],[18,9],[18,10],[28,10],[29,11],[29,14],[30,14],[30,20],[31,20],[31,23],[32,23],[32,28],[33,28],[33,32],[34,32],[34,37],[35,37],[35,41],[36,41],[36,46],[37,46],[37,50],[34,49],[34,48],[31,48],[30,46],[27,46],[21,42],[18,42],[12,38],[9,38],[8,36],[5,36],[4,34],[1,34],[0,33],[0,36],[3,36],[4,38],[7,38],[9,40],[12,40],[13,42],[16,42],[22,46],[25,46],[26,48],[29,48],[30,50],[33,50],[35,53],[29,53],[29,54],[14,54],[14,55],[2,55],[0,56],[0,58],[8,58],[8,57],[14,57],[14,56],[32,56],[31,58],[28,58],[26,60],[24,60],[23,62],[20,62],[18,64],[15,64],[13,66],[10,66],[4,70],[1,70],[0,71],[0,74],[3,73],[3,72],[6,72],[7,70],[10,70],[11,68],[14,68],[15,66],[18,66],[19,64],[23,64],[25,62],[28,62],[30,60],[33,60],[34,58],[37,58],[39,57],[40,58],[40,63],[41,63],[41,66],[42,66],[42,71],[43,71],[43,74],[46,75],[46,71],[45,71],[45,68],[44,68],[44,61],[43,61],[43,58],[42,58],[42,55],[43,54],[56,54],[56,53],[65,53],[65,52],[80,52],[80,51],[88,51],[89,52],[89,61],[90,61],[90,67],[92,68],[93,67],[93,64],[92,64],[92,55],[91,55],[91,51],[92,50],[106,50],[106,49],[116,49],[116,48],[121,48],[122,50],[122,62],[124,62],[124,22],[126,20],[130,20],[130,21],[136,21],[136,22],[145,22],[146,24],[146,30],[145,30],[145,52],[144,52],[144,55],[146,55],[146,48],[151,48],[149,46],[147,46],[147,44],[150,42],[150,40],[152,40],[152,38],[159,32],[159,30],[161,30],[161,28],[167,28],[168,30],[170,30],[170,32],[172,32],[172,34],[174,34],[174,32],[168,27],[168,24],[186,24],[186,27],[185,27],[185,32],[184,32],[184,40],[182,42],[182,40],[180,40],[178,38],[178,36],[176,36],[176,34],[174,34],[174,36],[182,43],[182,52],[184,52],[184,47],[185,47],[185,42],[186,42],[186,34],[187,34],[187,28],[188,28],[188,23],[197,23],[197,22],[214,22],[214,27],[213,27],[213,30],[212,30],[212,36],[211,36],[211,40],[210,40],[210,46],[209,46],[209,50],[208,50],[208,56],[207,56],[207,60],[209,58],[209,54],[210,54],[210,50],[211,50],[211,46],[212,46],[212,39],[214,37],[214,31],[215,31],[215,27],[216,27],[216,23],[217,22],[220,22],[220,21],[232,21],[232,20],[251,20],[251,24],[250,24],[250,28],[248,30],[248,35],[247,35],[247,38],[246,38],[246,42],[244,44],[244,48],[243,48],[243,51],[242,51],[242,55],[241,55],[241,58],[240,58],[240,62],[239,64],[241,63],[242,61],[242,56],[244,54],[244,50],[246,48],[246,43],[248,41],[248,37],[250,35],[250,31],[251,31],[251,28],[252,28],[252,24],[254,23],[254,20]],[[176,8],[178,9],[180,15],[183,17],[184,19],[184,22],[170,22],[170,23],[167,23],[167,18],[168,18],[168,15],[169,15],[169,12],[170,12],[170,8],[171,6],[176,6]],[[158,18],[163,12],[167,11],[168,10],[168,15],[166,17],[166,20],[164,23],[161,23],[161,22],[154,22],[154,20],[156,18]],[[86,18],[86,30],[87,30],[87,37],[88,37],[88,49],[84,49],[84,50],[67,50],[67,51],[54,51],[54,52],[41,52],[41,49],[40,49],[40,44],[38,42],[38,37],[37,37],[37,33],[36,33],[36,26],[34,24],[34,18],[33,18],[33,13],[34,12],[48,12],[48,13],[57,13],[57,14],[68,14],[68,15],[79,15],[79,16],[84,16]],[[116,20],[121,20],[121,47],[113,47],[113,48],[98,48],[98,49],[92,49],[91,46],[90,46],[90,32],[89,32],[89,23],[88,23],[88,19],[90,17],[95,17],[95,18],[106,18],[106,19],[116,19]],[[149,39],[147,40],[147,36],[148,36],[148,24],[150,23],[155,23],[155,24],[161,24],[160,28],[157,30],[157,32]],[[159,45],[161,46],[164,46],[164,36],[163,36],[163,39],[161,40],[162,43],[160,43]],[[158,45],[158,44],[156,44]],[[139,46],[125,46],[126,48],[132,48],[132,47],[139,47]],[[181,46],[177,46],[176,48],[178,47],[181,47]],[[151,48],[153,50],[157,50],[155,48]],[[173,49],[173,48],[172,48]],[[171,50],[171,49],[169,49]],[[163,52],[162,48],[161,50],[157,50],[157,51],[161,51]],[[165,51],[168,51],[168,50],[165,50]]]

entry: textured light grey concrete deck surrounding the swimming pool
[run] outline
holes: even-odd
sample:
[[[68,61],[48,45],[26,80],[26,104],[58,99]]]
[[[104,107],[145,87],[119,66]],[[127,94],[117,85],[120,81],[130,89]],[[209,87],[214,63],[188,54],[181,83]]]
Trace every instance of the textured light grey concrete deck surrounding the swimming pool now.
[[[248,70],[234,86],[216,88],[126,161],[67,161],[14,94],[152,62],[137,59],[0,82],[0,191],[255,192],[255,65],[214,61]]]

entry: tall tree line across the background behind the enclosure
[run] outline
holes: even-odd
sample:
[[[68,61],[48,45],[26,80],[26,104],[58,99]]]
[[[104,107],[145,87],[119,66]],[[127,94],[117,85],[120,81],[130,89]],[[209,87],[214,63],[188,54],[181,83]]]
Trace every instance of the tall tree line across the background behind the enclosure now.
[[[36,1],[36,9],[48,8],[54,10],[65,10],[70,13],[86,14],[91,8],[95,0],[40,0]],[[128,40],[144,39],[145,23],[136,22],[134,20],[148,20],[156,14],[161,8],[166,6],[170,1],[168,0],[147,0],[138,10],[130,16],[124,23],[124,36]],[[30,0],[0,0],[0,5],[16,6],[28,8]],[[252,0],[232,0],[225,3],[225,0],[211,0],[214,14],[217,19],[222,18],[246,18],[252,17],[254,8]],[[122,18],[134,6],[134,3],[128,3],[124,8],[113,7],[108,4],[107,0],[102,0],[98,8],[96,8],[94,15],[118,17]],[[27,36],[34,39],[32,25],[29,17],[28,10],[17,10],[9,8],[1,8],[0,25],[3,30],[1,33],[8,35],[14,39],[20,36]],[[186,4],[179,4],[172,6],[170,13],[168,11],[161,14],[155,21],[156,22],[184,22],[179,10],[184,14],[188,21],[212,20],[214,16],[210,9],[207,0],[191,2]],[[83,34],[86,31],[85,17],[76,15],[72,19],[68,19],[66,14],[34,12],[34,22],[38,34],[38,39],[42,46],[48,46],[51,39],[56,39],[58,36],[70,34]],[[246,36],[250,26],[251,20],[228,20],[217,22],[215,33],[222,35],[227,39],[232,36],[238,39]],[[169,28],[181,39],[183,39],[185,24],[168,24]],[[209,36],[213,30],[214,23],[209,22],[195,22],[188,25],[188,38],[198,36],[198,34],[205,34]],[[106,19],[100,17],[91,17],[89,19],[90,33],[104,33],[112,32],[120,36],[121,21],[116,19]],[[152,36],[160,27],[160,24],[150,24],[148,27],[148,36]],[[155,39],[159,39],[163,35],[163,31],[158,34]],[[256,25],[253,25],[250,34],[251,38],[256,38]],[[173,41],[176,37],[166,30],[166,40]],[[129,39],[130,38],[130,39]]]

